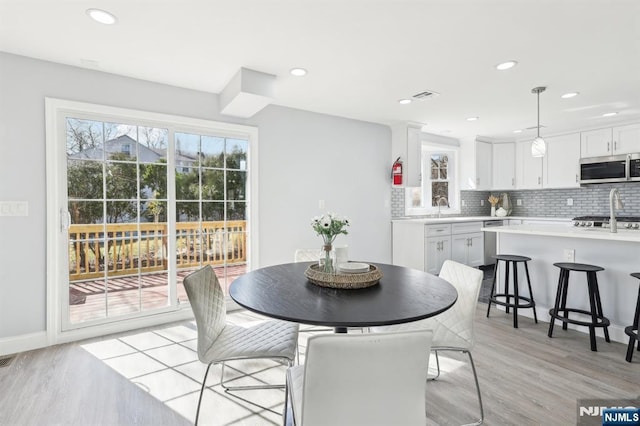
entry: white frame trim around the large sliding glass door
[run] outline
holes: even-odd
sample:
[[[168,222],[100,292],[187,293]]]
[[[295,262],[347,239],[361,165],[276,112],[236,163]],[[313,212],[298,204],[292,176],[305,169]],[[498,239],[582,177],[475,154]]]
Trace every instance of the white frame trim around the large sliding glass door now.
[[[46,136],[46,167],[47,167],[47,281],[46,281],[46,345],[53,345],[61,342],[74,341],[78,339],[94,337],[114,332],[130,330],[132,328],[146,327],[162,324],[170,321],[177,321],[192,316],[190,309],[183,309],[177,302],[171,302],[170,312],[149,312],[143,315],[136,315],[135,318],[122,318],[109,324],[87,325],[73,330],[62,331],[62,306],[59,303],[62,292],[61,284],[66,280],[67,271],[60,262],[59,247],[62,243],[62,231],[66,224],[66,215],[57,209],[60,204],[60,188],[65,179],[64,170],[61,164],[64,163],[66,150],[56,147],[57,136],[62,132],[61,126],[65,126],[64,114],[73,114],[77,118],[95,119],[95,115],[105,119],[113,119],[120,123],[130,123],[136,125],[155,125],[159,123],[170,125],[173,131],[197,131],[202,134],[213,134],[216,136],[246,138],[249,141],[247,156],[249,157],[250,188],[247,194],[249,210],[247,212],[249,242],[249,261],[253,265],[258,262],[258,129],[253,126],[242,124],[224,123],[218,121],[202,120],[177,115],[169,115],[155,112],[147,112],[128,108],[118,108],[106,105],[75,102],[64,99],[45,98],[45,136]],[[169,143],[172,145],[172,141]],[[253,197],[252,195],[256,196]],[[255,198],[255,199],[254,199]],[[251,241],[253,239],[253,241]],[[52,253],[58,253],[55,256]],[[251,265],[247,264],[247,268]],[[175,269],[174,269],[175,270]],[[43,345],[44,346],[44,345]]]

